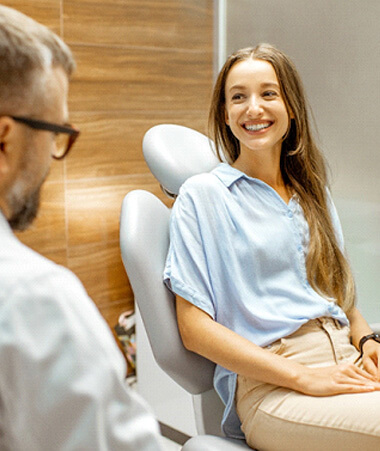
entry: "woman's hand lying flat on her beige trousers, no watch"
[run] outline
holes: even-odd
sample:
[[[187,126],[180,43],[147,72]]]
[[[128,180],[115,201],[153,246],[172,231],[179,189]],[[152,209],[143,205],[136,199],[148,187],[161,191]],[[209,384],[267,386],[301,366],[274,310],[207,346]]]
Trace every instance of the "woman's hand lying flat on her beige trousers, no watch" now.
[[[380,383],[375,375],[358,368],[352,363],[324,368],[305,367],[298,382],[297,390],[312,396],[331,396],[380,390]]]

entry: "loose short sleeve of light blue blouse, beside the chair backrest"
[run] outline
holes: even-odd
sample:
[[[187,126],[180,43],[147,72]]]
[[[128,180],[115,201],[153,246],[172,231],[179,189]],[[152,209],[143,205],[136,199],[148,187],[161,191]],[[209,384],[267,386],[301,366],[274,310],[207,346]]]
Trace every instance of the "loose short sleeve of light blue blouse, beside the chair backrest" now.
[[[207,250],[204,243],[210,234],[207,209],[202,201],[184,187],[180,191],[170,218],[170,246],[164,270],[164,282],[215,319],[213,288]]]

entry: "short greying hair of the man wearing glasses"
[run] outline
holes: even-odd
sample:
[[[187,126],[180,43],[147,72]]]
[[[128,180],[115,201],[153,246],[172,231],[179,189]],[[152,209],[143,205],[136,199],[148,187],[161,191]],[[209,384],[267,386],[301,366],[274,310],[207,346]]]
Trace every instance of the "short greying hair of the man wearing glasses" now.
[[[55,67],[72,75],[68,46],[44,25],[0,5],[0,114],[24,113],[44,103],[45,77]]]

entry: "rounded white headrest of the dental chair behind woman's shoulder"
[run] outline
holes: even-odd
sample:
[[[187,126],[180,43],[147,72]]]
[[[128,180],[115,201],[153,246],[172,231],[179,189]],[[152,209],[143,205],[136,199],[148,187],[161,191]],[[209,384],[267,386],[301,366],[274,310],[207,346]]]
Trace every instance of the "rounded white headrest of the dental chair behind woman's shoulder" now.
[[[196,130],[174,124],[149,129],[143,139],[143,154],[164,191],[174,195],[189,177],[209,172],[220,163],[212,140]]]

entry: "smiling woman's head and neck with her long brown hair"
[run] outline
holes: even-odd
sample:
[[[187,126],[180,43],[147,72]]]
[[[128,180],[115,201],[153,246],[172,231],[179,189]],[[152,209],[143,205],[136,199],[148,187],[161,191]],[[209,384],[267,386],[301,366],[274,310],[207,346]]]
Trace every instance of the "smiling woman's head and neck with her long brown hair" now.
[[[267,92],[265,84],[277,86],[274,100],[263,98],[263,93]],[[257,134],[253,132],[253,136],[244,127],[247,114],[252,116],[252,105],[248,103],[248,111],[245,111],[246,103],[243,103],[242,112],[239,103],[230,104],[228,90],[243,85],[252,91],[247,91],[246,95],[255,100],[253,106],[258,109],[254,114],[260,118],[264,114],[275,116],[266,118],[273,120],[271,127]],[[260,102],[256,103],[258,99]],[[270,107],[272,102],[273,108]],[[267,105],[265,111],[264,105]],[[234,116],[235,121],[226,127],[229,111],[235,112],[235,106],[238,117]],[[209,122],[217,151],[224,153],[232,165],[265,181],[286,202],[297,194],[310,225],[310,251],[306,261],[309,282],[317,292],[340,299],[350,308],[355,297],[354,282],[347,260],[339,250],[331,218],[324,214],[328,210],[326,165],[312,137],[303,84],[293,62],[268,44],[231,55],[215,84]],[[255,152],[246,152],[248,143],[258,144]],[[270,152],[268,146],[272,146]],[[337,263],[342,277],[331,278],[325,266],[329,260]]]

